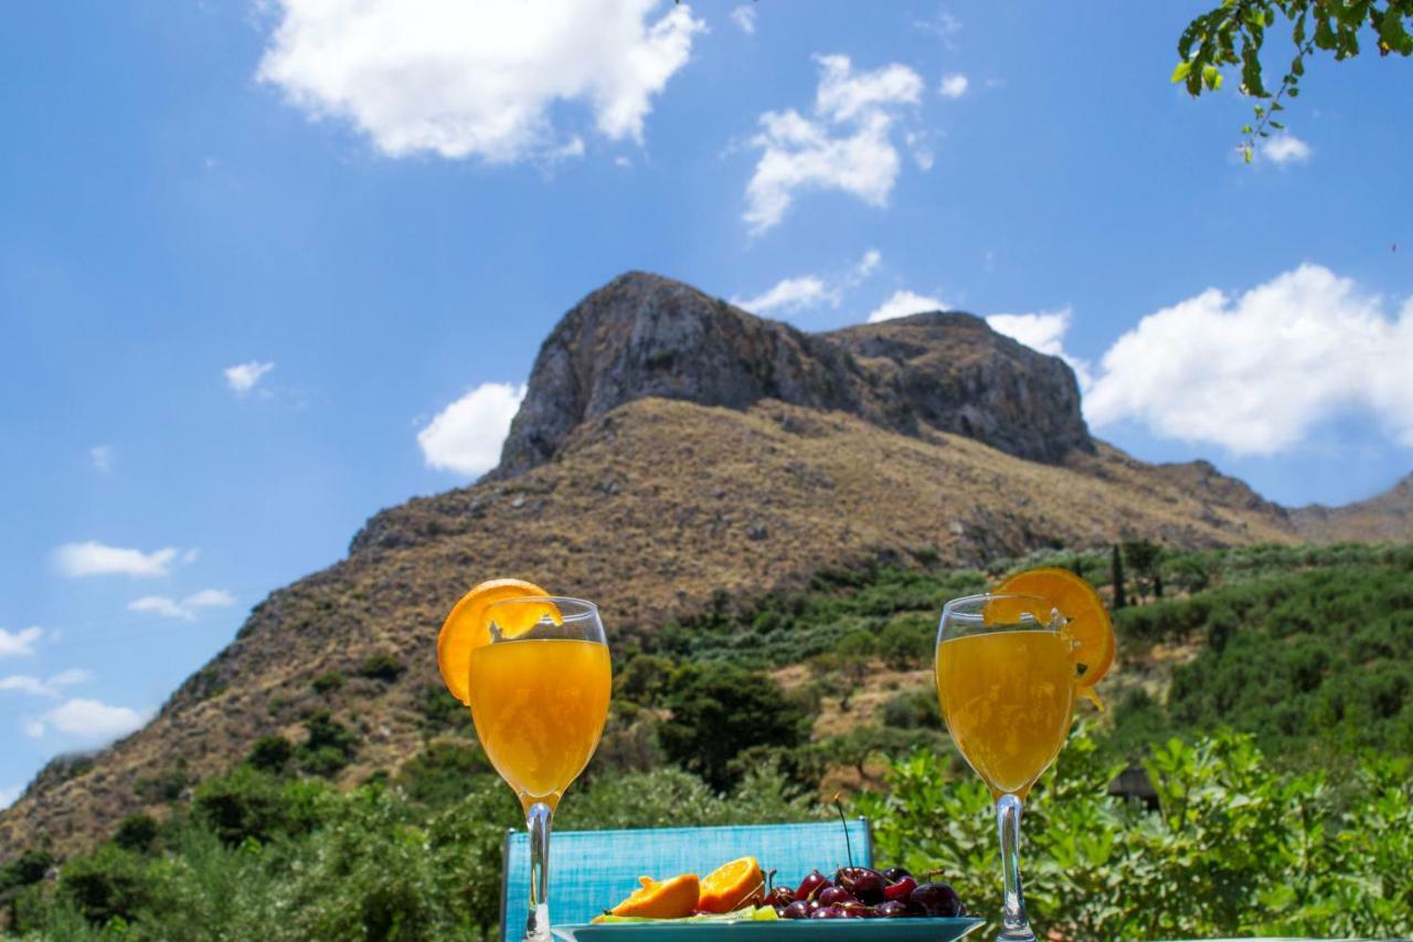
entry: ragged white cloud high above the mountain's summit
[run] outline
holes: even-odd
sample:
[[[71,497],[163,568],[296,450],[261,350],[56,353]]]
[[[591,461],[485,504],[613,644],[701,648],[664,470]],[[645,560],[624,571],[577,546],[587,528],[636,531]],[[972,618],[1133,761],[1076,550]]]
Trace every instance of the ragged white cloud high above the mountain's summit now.
[[[921,99],[923,79],[899,64],[855,72],[846,55],[817,61],[814,117],[766,112],[750,140],[763,151],[746,185],[745,219],[755,233],[779,223],[800,191],[841,190],[883,207],[897,180],[896,112]]]

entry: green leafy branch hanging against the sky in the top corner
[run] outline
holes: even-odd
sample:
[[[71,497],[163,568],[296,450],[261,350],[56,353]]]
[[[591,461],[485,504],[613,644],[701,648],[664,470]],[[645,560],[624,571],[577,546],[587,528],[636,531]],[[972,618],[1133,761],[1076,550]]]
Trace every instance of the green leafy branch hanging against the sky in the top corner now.
[[[1260,52],[1266,30],[1277,18],[1290,24],[1296,55],[1280,86],[1270,92],[1262,79]],[[1251,163],[1258,139],[1284,130],[1276,113],[1286,110],[1284,99],[1300,96],[1306,59],[1316,50],[1332,52],[1335,61],[1358,55],[1365,27],[1372,30],[1379,55],[1413,55],[1413,0],[1222,0],[1183,30],[1173,81],[1195,98],[1221,89],[1224,68],[1241,68],[1241,93],[1260,99],[1255,122],[1242,127],[1242,154]]]

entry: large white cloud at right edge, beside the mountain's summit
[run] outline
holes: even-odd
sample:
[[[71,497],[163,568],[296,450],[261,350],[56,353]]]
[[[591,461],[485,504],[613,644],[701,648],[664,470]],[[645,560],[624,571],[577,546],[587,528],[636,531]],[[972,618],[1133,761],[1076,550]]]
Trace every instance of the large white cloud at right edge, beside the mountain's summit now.
[[[1109,348],[1085,417],[1270,455],[1323,420],[1364,412],[1413,448],[1413,298],[1389,307],[1317,264],[1239,297],[1210,289]]]

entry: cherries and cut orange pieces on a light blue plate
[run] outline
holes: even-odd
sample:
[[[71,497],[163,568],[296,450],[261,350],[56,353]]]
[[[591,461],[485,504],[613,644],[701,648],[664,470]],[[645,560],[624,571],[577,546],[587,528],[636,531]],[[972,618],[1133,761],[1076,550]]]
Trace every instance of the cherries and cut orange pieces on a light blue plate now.
[[[564,942],[714,939],[879,939],[948,942],[982,925],[945,883],[903,867],[811,871],[796,887],[773,885],[755,857],[705,877],[642,877],[626,900],[585,925],[555,926]]]

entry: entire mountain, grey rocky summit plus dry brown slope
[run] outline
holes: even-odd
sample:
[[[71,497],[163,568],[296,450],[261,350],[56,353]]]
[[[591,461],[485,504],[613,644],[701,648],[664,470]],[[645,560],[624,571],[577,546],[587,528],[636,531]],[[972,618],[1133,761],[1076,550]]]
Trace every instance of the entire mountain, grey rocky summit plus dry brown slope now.
[[[666,279],[615,286],[617,301],[595,293],[585,304],[606,307],[589,317],[579,306],[547,341],[500,472],[377,513],[348,559],[271,593],[147,727],[86,771],[49,769],[0,815],[0,860],[40,840],[85,847],[157,808],[151,782],[229,768],[263,734],[300,741],[325,707],[359,734],[343,781],[396,767],[422,743],[428,690],[445,700],[437,628],[486,577],[598,600],[612,641],[721,591],[747,598],[877,557],[975,564],[1139,536],[1301,537],[1284,509],[1210,465],[1153,467],[1089,440],[1077,393],[1063,395],[1068,368],[976,318],[820,339],[709,298],[704,310],[705,296]],[[674,318],[694,339],[654,359],[664,331],[685,330]],[[718,373],[739,383],[704,385]],[[372,655],[406,673],[359,676]],[[348,683],[317,693],[331,670]]]

